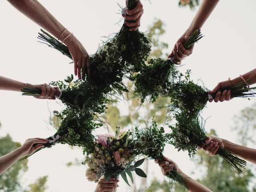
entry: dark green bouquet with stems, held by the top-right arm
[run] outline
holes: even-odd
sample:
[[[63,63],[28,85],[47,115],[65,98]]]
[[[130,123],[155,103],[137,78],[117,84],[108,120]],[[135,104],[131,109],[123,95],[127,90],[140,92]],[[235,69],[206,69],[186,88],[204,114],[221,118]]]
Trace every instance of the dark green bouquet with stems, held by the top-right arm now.
[[[201,31],[197,29],[186,40],[184,48],[190,48],[202,37]],[[143,66],[139,74],[131,78],[135,84],[134,94],[140,96],[142,102],[147,97],[154,102],[158,95],[165,96],[179,77],[179,72],[171,60],[150,59],[148,64]]]

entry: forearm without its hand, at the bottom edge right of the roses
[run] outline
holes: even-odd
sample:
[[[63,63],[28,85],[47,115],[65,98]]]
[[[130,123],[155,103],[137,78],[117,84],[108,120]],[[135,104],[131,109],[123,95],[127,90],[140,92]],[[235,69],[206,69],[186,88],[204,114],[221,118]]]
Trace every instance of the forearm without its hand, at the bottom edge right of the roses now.
[[[190,178],[184,172],[180,171],[182,177],[184,178],[185,184],[188,187],[190,192],[212,192],[206,186],[200,184],[196,180]]]

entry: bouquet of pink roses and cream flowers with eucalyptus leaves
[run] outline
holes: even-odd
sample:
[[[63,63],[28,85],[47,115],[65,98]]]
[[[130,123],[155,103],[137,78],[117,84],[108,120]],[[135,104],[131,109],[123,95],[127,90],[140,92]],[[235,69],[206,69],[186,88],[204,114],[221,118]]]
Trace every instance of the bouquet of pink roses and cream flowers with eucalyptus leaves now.
[[[130,132],[118,138],[116,136],[105,134],[97,135],[96,142],[93,147],[93,153],[86,156],[83,164],[87,164],[86,177],[89,181],[98,182],[104,176],[105,180],[110,178],[118,178],[122,176],[124,181],[130,186],[126,174],[130,177],[133,183],[132,171],[135,171],[138,176],[146,177],[146,174],[138,168],[144,159],[138,160],[137,153],[134,151],[134,141],[129,138]]]

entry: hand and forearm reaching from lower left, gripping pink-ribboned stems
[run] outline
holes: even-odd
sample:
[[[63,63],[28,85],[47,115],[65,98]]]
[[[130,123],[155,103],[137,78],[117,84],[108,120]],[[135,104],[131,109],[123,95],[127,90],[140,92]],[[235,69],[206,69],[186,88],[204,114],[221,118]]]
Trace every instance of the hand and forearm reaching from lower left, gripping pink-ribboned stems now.
[[[10,166],[12,166],[17,160],[23,156],[33,154],[36,150],[43,147],[47,142],[49,142],[49,140],[42,138],[28,139],[20,148],[0,157],[0,175],[10,168]],[[33,146],[33,144],[37,145]]]

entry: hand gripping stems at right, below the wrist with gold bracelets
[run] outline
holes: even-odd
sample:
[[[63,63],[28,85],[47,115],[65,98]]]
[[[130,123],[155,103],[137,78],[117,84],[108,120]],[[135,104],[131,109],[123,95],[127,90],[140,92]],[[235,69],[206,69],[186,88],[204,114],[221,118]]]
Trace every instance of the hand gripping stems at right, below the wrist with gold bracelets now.
[[[232,98],[230,98],[231,91],[230,90],[224,90],[225,88],[228,88],[230,86],[233,86],[231,80],[219,82],[217,84],[217,86],[212,91],[209,92],[209,94],[214,94],[214,93],[217,92],[217,94],[214,97],[214,102],[229,101],[230,99],[232,99]],[[224,90],[224,91],[220,92],[219,90]],[[210,99],[209,101],[212,102],[213,99]]]

